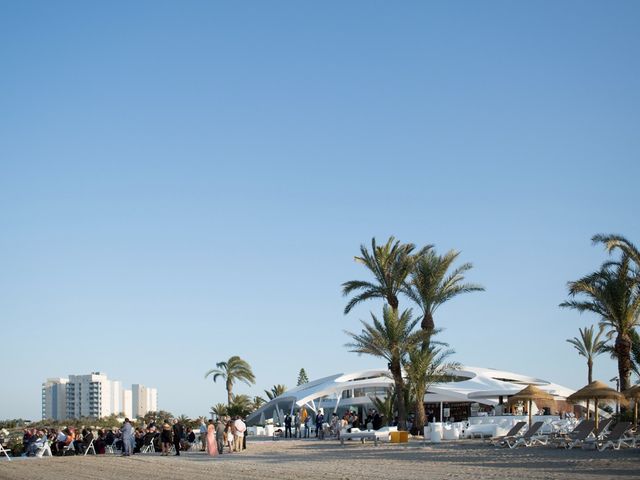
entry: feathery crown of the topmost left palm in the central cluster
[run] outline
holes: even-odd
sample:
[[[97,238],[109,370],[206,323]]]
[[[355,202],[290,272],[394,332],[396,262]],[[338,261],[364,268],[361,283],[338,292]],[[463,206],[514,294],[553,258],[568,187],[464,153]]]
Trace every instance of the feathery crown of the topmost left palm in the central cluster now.
[[[418,253],[422,254],[431,248],[427,246]],[[344,308],[345,315],[360,302],[372,298],[384,299],[394,312],[398,311],[398,294],[402,291],[405,280],[413,270],[416,256],[412,254],[415,245],[412,243],[401,244],[394,237],[389,237],[383,246],[376,244],[376,239],[371,240],[371,251],[360,245],[362,256],[355,257],[356,262],[367,267],[375,278],[374,282],[362,280],[350,280],[342,284],[344,296],[357,294],[349,300]]]

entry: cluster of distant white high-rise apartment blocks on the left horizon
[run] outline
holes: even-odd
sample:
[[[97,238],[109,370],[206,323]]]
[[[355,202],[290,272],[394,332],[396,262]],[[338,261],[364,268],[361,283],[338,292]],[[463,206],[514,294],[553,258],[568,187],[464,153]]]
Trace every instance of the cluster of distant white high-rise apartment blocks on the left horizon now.
[[[144,386],[140,389],[140,385],[135,387],[144,395],[143,406],[152,405],[157,410],[157,390]],[[132,417],[132,400],[132,390],[123,389],[122,382],[109,380],[100,372],[69,375],[69,378],[48,378],[42,384],[42,418],[100,418],[112,414]]]

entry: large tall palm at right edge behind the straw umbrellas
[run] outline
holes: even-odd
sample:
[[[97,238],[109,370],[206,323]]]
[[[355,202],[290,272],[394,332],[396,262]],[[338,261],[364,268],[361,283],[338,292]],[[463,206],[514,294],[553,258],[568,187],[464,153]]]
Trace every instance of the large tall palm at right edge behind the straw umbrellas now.
[[[618,359],[618,378],[621,390],[629,388],[632,370],[632,332],[640,325],[640,292],[630,267],[629,257],[619,262],[607,262],[600,270],[575,282],[569,282],[569,296],[585,300],[570,300],[561,307],[579,312],[593,312],[600,316],[600,324],[615,335],[614,352]]]

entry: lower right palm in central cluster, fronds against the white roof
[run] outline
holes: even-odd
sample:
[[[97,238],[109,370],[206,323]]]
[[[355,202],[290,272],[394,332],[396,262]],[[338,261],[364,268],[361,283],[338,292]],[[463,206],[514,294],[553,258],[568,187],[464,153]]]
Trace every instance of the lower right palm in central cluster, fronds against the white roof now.
[[[424,396],[429,387],[435,383],[450,382],[455,379],[453,371],[460,368],[457,362],[447,362],[454,351],[445,349],[447,344],[429,341],[428,347],[415,345],[409,350],[404,369],[407,383],[416,399],[416,419],[414,426],[422,434],[427,415],[424,410]]]

